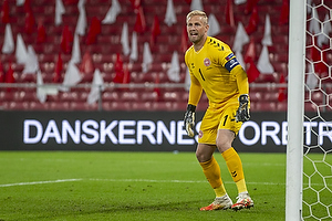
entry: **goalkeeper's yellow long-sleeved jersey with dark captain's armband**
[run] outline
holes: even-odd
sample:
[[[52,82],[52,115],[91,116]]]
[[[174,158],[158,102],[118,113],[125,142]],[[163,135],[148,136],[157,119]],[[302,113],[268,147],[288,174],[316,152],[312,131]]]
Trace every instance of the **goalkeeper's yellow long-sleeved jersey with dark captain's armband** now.
[[[188,104],[197,106],[203,90],[210,106],[224,106],[226,102],[237,101],[240,94],[249,93],[247,73],[230,48],[220,40],[207,36],[197,52],[190,46],[185,62],[191,78]]]

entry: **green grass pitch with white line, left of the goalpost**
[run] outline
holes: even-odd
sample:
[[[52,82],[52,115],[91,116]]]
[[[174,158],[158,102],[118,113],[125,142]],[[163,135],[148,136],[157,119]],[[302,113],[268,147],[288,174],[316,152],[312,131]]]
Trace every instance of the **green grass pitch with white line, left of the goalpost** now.
[[[237,190],[219,154],[228,194]],[[240,154],[255,208],[199,211],[215,198],[195,152],[0,152],[0,221],[284,220],[286,155]]]

